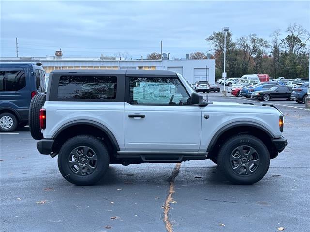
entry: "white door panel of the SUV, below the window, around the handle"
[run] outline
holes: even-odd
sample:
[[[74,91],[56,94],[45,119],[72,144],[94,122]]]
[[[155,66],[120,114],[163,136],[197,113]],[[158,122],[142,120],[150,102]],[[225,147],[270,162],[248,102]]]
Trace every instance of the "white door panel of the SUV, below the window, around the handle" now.
[[[129,118],[142,114],[145,118]],[[130,105],[125,103],[126,151],[198,152],[202,110],[198,106]]]

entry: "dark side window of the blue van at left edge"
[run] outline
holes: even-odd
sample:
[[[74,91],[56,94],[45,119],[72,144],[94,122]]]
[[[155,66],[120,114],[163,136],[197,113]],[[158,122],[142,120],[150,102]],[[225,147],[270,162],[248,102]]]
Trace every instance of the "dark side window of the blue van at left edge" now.
[[[26,86],[23,70],[0,71],[0,91],[18,91]]]

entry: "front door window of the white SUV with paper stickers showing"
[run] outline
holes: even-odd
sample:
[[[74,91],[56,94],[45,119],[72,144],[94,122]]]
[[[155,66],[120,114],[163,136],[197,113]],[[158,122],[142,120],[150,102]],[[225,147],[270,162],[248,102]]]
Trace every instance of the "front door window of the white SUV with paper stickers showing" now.
[[[189,95],[177,78],[130,77],[130,103],[186,105]]]

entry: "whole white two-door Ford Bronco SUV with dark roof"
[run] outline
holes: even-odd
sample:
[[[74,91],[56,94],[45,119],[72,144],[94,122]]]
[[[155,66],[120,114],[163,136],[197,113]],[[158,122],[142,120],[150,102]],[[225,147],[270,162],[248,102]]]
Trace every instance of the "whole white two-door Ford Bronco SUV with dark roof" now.
[[[252,184],[287,145],[272,105],[204,101],[171,71],[55,70],[29,122],[39,152],[58,155],[76,185],[94,184],[110,163],[205,159],[231,182]]]

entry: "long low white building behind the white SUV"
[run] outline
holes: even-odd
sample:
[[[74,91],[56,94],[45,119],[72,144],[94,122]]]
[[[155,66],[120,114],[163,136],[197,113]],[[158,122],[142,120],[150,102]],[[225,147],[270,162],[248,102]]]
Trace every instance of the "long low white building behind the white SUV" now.
[[[55,69],[149,69],[171,70],[182,74],[189,83],[198,80],[215,82],[214,59],[181,59],[181,60],[101,60],[94,58],[66,58],[47,56],[34,58],[3,57],[1,62],[41,62],[46,73]]]

